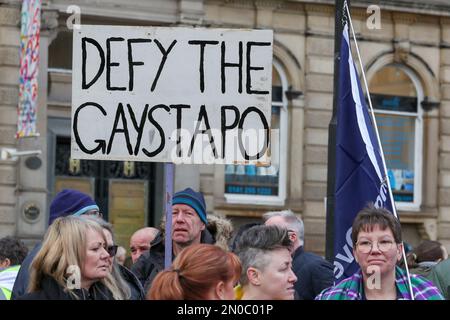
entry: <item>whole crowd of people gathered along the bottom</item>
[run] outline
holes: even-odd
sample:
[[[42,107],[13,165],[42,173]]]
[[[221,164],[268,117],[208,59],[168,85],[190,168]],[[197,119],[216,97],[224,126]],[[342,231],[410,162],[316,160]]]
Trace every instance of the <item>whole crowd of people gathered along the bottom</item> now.
[[[50,205],[48,228],[30,252],[0,239],[0,300],[442,300],[449,298],[445,247],[426,240],[404,264],[400,223],[368,206],[353,222],[359,270],[336,281],[327,260],[304,250],[304,225],[290,210],[241,226],[208,215],[191,188],[172,198],[172,265],[164,267],[161,226],[137,230],[126,249],[87,194],[65,189]],[[409,270],[409,272],[407,271]]]

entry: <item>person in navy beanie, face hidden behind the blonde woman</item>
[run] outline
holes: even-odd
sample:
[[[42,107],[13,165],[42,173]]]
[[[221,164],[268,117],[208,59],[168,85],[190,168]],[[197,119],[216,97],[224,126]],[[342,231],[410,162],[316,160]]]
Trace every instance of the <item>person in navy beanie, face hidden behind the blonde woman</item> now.
[[[68,215],[80,216],[82,214],[102,217],[97,204],[89,195],[77,190],[64,189],[55,196],[50,204],[48,225],[51,225],[59,217]],[[14,282],[11,297],[13,300],[26,293],[30,280],[29,268],[34,257],[41,249],[41,246],[41,242],[36,244],[22,262],[16,281]]]

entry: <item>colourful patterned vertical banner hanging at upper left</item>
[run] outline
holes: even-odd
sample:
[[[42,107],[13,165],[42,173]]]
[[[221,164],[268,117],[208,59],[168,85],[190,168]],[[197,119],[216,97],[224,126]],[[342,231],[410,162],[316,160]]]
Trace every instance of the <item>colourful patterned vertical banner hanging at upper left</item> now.
[[[16,138],[36,132],[41,0],[23,0],[20,32],[20,87]]]

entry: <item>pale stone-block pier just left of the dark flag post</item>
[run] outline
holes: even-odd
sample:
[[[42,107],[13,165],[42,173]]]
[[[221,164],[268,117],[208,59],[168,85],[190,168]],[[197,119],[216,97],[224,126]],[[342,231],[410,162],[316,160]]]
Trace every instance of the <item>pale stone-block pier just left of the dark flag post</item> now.
[[[305,70],[305,247],[325,253],[328,124],[333,108],[334,8],[307,5]]]

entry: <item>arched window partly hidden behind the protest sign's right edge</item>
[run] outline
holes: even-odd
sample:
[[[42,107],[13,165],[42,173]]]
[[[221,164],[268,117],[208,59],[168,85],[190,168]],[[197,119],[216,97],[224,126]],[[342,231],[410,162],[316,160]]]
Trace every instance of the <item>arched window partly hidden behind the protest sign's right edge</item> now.
[[[287,166],[287,79],[281,65],[272,68],[271,165],[225,166],[225,198],[228,203],[284,205]]]

